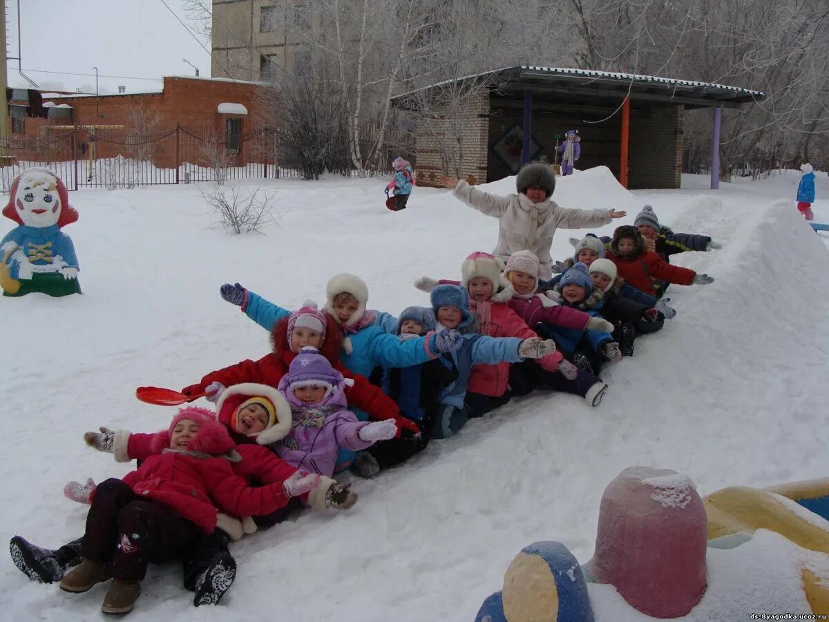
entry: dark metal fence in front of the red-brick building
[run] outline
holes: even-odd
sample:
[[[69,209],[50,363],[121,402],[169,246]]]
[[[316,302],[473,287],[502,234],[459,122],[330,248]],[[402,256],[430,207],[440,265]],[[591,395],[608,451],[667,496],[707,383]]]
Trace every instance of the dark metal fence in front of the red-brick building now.
[[[48,168],[67,188],[77,190],[301,178],[295,162],[286,153],[278,129],[233,135],[182,124],[160,131],[60,125],[48,127],[43,137],[15,138],[12,134],[0,141],[0,187],[8,192],[14,178],[31,167]],[[388,172],[386,168],[378,173]]]

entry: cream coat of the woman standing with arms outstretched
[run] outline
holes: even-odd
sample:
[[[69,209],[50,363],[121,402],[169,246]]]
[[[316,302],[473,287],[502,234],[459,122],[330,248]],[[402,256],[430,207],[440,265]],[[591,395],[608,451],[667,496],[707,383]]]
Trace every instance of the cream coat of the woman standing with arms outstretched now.
[[[482,192],[463,180],[458,182],[453,194],[482,214],[498,219],[498,244],[492,255],[506,261],[518,250],[530,250],[541,262],[541,278],[550,279],[550,245],[555,230],[586,229],[608,225],[610,210],[579,210],[559,207],[555,201],[545,199],[533,203],[526,194],[509,194],[502,197]]]

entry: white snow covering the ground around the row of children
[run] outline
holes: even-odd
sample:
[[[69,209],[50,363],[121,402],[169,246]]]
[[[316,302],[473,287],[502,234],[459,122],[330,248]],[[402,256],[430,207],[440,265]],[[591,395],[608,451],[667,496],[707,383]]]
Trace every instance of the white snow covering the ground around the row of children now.
[[[151,566],[130,620],[272,611],[282,620],[472,620],[526,544],[559,540],[588,561],[604,486],[627,466],[676,469],[701,494],[826,476],[829,234],[798,214],[798,180],[788,172],[711,192],[707,178],[687,176],[681,190],[628,192],[606,169],[561,179],[554,198],[565,206],[627,210],[618,225],[651,203],[675,231],[724,245],[676,258],[715,283],[671,287],[676,318],[607,367],[602,405],[538,392],[514,400],[399,469],[357,479],[351,512],[304,513],[236,544],[239,575],[219,607],[194,609],[179,568]],[[495,245],[497,222],[448,192],[415,188],[395,213],[383,207],[384,183],[269,182],[283,216],[264,236],[225,234],[196,186],[71,193],[80,221],[65,232],[84,295],[0,299],[2,541],[20,534],[56,547],[83,532],[86,508],[62,496],[65,482],[128,468],[81,435],[99,425],[158,430],[174,413],[138,402],[136,386],[179,388],[269,351],[268,335],[221,300],[220,284],[238,280],[296,308],[322,304],[328,277],[349,271],[369,284],[371,308],[396,313],[428,304],[416,277],[459,275],[463,257]],[[511,192],[514,178],[487,189]],[[825,173],[817,197],[816,220],[829,221]],[[12,226],[0,222],[0,236]],[[554,257],[584,233],[559,231]],[[3,560],[2,617],[99,618],[104,586],[68,595]]]

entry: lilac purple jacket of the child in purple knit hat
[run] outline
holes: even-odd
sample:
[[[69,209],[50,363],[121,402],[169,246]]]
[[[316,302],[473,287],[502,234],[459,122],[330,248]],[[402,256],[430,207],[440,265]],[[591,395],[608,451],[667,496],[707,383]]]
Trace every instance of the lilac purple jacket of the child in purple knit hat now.
[[[287,386],[286,375],[279,381],[279,392],[291,405],[291,431],[283,440],[269,445],[285,462],[308,473],[331,477],[340,447],[360,451],[373,444],[361,440],[357,434],[369,422],[357,420],[356,415],[347,410],[342,381],[338,381],[332,393],[316,404],[298,401],[291,391],[287,391]]]

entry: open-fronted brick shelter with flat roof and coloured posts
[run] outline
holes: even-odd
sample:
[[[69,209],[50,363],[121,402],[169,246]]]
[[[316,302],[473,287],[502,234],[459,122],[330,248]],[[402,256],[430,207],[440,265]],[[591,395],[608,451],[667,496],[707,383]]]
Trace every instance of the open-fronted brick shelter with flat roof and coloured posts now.
[[[462,105],[453,102],[453,109],[463,112],[448,114],[448,104],[435,104],[429,123],[416,129],[420,185],[438,185],[444,171],[458,162],[461,176],[475,183],[514,175],[521,163],[531,160],[553,163],[556,143],[567,130],[576,129],[581,138],[577,168],[604,165],[625,187],[677,188],[685,111],[738,108],[764,97],[758,91],[690,80],[531,66],[493,70],[451,84],[463,86],[464,81],[482,87],[468,89]],[[392,101],[400,109],[422,109],[432,94],[433,102],[445,101],[447,84]],[[451,91],[457,94],[463,88]],[[717,111],[715,136],[719,117]]]

